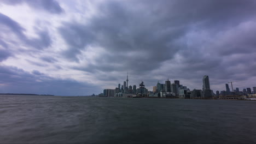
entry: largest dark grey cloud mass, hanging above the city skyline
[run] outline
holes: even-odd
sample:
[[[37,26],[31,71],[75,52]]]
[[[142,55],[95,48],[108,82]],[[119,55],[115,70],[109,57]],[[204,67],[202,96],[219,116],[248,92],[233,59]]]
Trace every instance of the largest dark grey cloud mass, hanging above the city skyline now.
[[[63,53],[73,61],[79,62],[88,46],[105,50],[75,69],[96,77],[129,70],[136,77],[148,77],[149,85],[152,75],[195,83],[201,83],[203,75],[216,81],[255,76],[249,71],[232,75],[240,68],[231,69],[235,63],[226,60],[237,53],[256,52],[255,1],[105,1],[97,9],[98,15],[86,24],[66,22],[59,28],[69,46]],[[248,68],[254,65],[255,61]]]

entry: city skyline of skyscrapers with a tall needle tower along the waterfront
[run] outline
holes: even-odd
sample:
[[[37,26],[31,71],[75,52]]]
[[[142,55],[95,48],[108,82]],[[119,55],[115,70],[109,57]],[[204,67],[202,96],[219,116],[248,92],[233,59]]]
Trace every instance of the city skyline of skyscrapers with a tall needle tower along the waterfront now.
[[[123,85],[118,84],[115,89],[104,89],[103,93],[99,96],[102,97],[148,97],[148,98],[212,98],[214,96],[232,96],[232,95],[248,95],[256,93],[256,87],[243,89],[242,92],[239,88],[233,89],[230,92],[229,85],[226,83],[226,91],[216,91],[216,94],[210,88],[209,76],[205,75],[202,78],[202,89],[193,89],[190,91],[187,86],[183,86],[179,83],[179,80],[174,80],[173,83],[169,79],[164,84],[158,82],[156,86],[153,86],[153,91],[148,91],[145,88],[144,82],[139,83],[139,88],[136,85],[128,86],[128,74],[127,79]],[[232,82],[231,86],[232,86]]]

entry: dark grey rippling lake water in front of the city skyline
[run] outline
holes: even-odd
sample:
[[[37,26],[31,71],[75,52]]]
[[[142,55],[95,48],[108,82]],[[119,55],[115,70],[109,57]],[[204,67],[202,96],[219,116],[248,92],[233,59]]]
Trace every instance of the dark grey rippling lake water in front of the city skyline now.
[[[256,101],[2,95],[0,143],[256,143]]]

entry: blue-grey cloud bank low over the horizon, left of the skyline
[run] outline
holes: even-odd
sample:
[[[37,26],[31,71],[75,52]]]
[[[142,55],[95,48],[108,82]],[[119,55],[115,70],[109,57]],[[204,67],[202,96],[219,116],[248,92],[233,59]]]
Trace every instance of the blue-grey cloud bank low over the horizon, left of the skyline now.
[[[55,95],[91,95],[99,88],[72,79],[56,79],[33,70],[0,65],[0,93],[36,93]]]

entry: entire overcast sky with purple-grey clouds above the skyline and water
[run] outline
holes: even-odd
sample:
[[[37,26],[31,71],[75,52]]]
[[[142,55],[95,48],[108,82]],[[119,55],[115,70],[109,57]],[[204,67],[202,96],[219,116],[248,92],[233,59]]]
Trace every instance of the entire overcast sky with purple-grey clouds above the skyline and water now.
[[[255,0],[0,1],[0,93],[256,86]],[[230,86],[231,88],[231,86]]]

